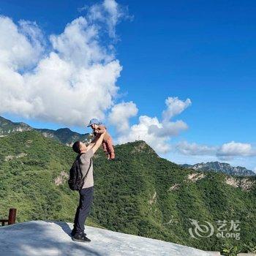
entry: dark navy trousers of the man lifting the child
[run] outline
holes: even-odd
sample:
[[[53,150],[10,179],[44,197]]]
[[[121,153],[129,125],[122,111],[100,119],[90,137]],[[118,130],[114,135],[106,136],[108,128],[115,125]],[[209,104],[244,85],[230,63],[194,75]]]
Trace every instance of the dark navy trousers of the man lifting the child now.
[[[76,217],[75,227],[76,227],[77,233],[83,233],[86,217],[88,217],[91,210],[94,187],[81,189],[79,193],[80,193],[80,205],[77,211],[78,214]]]

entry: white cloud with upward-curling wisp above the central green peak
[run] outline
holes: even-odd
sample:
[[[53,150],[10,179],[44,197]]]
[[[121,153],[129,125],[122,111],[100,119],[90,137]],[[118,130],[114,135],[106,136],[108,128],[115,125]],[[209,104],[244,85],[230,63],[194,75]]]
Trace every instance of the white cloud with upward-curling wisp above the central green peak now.
[[[125,132],[118,131],[118,126],[116,125],[117,131],[119,132],[118,143],[145,140],[148,145],[159,153],[170,151],[168,140],[188,128],[184,121],[171,121],[170,118],[181,113],[191,102],[190,99],[181,101],[177,97],[168,97],[165,104],[167,105],[167,109],[162,113],[162,121],[159,121],[157,117],[140,116],[138,124],[133,124],[129,129],[125,129]],[[122,107],[121,112],[125,113],[125,106],[122,105]],[[127,113],[129,113],[128,109]],[[129,116],[124,116],[124,118],[128,119]]]

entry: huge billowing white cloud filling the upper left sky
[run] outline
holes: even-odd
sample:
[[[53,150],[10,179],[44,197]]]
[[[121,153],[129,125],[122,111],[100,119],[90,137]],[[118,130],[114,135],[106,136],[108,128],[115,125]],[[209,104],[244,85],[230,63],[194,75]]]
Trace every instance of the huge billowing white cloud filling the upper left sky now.
[[[105,18],[115,26],[118,9],[114,12],[110,2],[97,6],[112,10]],[[0,113],[64,125],[105,118],[122,68],[111,40],[102,45],[106,24],[89,17],[93,8],[67,24],[62,34],[50,35],[50,48],[36,23],[20,20],[15,24],[0,17]]]

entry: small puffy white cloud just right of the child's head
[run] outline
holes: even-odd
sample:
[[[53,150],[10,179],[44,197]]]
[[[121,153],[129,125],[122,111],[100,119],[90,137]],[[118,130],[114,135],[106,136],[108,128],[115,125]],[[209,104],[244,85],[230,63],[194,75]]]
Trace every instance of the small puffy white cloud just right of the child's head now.
[[[110,124],[116,126],[119,134],[124,134],[129,130],[129,118],[136,116],[138,108],[133,102],[121,102],[111,109],[108,120]]]

